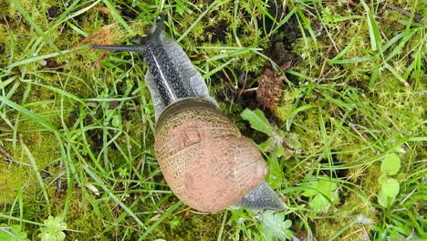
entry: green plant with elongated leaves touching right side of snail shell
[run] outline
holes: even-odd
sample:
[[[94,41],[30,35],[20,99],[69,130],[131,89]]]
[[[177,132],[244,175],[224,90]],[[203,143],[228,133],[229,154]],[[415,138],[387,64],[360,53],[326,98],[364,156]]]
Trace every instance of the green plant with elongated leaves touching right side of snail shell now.
[[[285,146],[294,150],[300,147],[297,141],[297,135],[286,133],[272,126],[261,110],[245,109],[241,113],[241,116],[244,120],[249,121],[251,127],[256,131],[261,131],[268,136],[265,142],[259,144],[259,148],[263,152],[270,152],[268,155],[269,173],[266,177],[266,181],[270,183],[273,188],[279,188],[283,183],[283,171],[278,162],[278,158],[288,158],[292,154],[292,151],[286,149]]]

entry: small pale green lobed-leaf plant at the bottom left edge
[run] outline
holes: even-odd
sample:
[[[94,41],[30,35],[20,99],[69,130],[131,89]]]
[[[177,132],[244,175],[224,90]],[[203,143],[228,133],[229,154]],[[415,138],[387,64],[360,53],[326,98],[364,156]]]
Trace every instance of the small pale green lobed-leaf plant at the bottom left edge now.
[[[67,229],[67,224],[62,222],[60,216],[49,216],[47,220],[44,221],[45,227],[41,228],[41,233],[38,234],[41,241],[63,241],[66,238],[65,233],[63,232]]]

